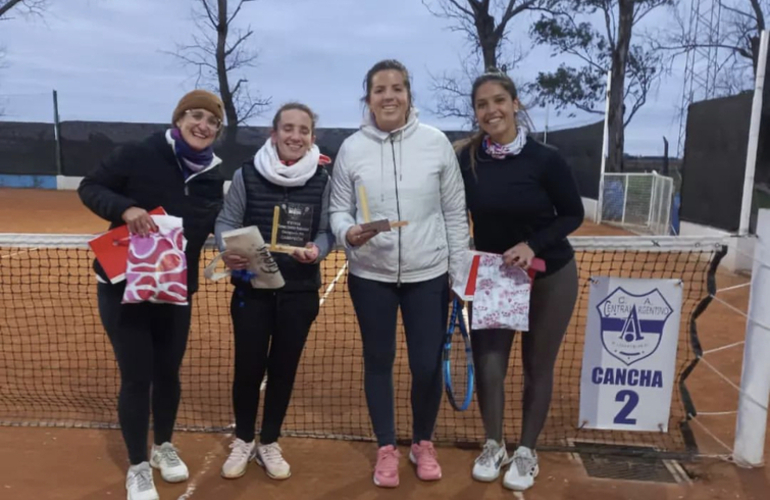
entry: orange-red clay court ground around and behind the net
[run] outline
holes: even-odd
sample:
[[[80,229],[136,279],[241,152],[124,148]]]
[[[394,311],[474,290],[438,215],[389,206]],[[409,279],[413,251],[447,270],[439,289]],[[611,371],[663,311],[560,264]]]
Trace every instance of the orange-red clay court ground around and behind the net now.
[[[85,210],[73,192],[0,189],[0,232],[96,233],[103,221]],[[584,224],[580,235],[619,235],[623,231]],[[745,282],[746,278],[720,273],[718,286]],[[720,298],[746,310],[747,289],[719,294]],[[712,304],[703,316],[708,328],[701,329],[704,349],[720,347],[742,338],[745,321],[720,304]],[[720,372],[738,383],[742,347],[707,355]],[[699,411],[720,412],[736,408],[737,393],[701,365],[689,386]],[[732,416],[701,416],[717,438],[732,445]],[[704,453],[725,454],[716,441],[695,427]],[[382,491],[371,483],[374,445],[333,440],[284,438],[286,458],[294,475],[285,482],[268,479],[257,466],[235,481],[219,477],[227,455],[227,436],[177,433],[175,441],[187,461],[190,480],[183,485],[162,484],[163,499],[374,499],[510,498],[500,482],[490,485],[470,479],[476,451],[441,448],[444,478],[435,484],[420,483],[402,460],[401,486]],[[768,440],[770,449],[770,439]],[[404,454],[407,450],[402,449]],[[123,498],[125,451],[118,431],[0,427],[0,498],[16,499],[104,499]],[[661,485],[589,478],[579,462],[564,453],[542,453],[537,485],[525,493],[528,499],[634,500],[661,499],[767,499],[770,473],[767,469],[742,470],[719,459],[686,464],[693,475],[691,485]],[[521,496],[521,495],[520,495]]]

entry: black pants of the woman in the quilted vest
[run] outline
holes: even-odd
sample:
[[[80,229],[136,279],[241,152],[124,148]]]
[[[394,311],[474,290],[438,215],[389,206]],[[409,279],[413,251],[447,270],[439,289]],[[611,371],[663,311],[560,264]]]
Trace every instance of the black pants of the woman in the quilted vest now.
[[[259,386],[267,370],[260,442],[278,440],[302,350],[318,316],[318,291],[274,292],[236,288],[230,303],[235,333],[235,435],[254,440]]]

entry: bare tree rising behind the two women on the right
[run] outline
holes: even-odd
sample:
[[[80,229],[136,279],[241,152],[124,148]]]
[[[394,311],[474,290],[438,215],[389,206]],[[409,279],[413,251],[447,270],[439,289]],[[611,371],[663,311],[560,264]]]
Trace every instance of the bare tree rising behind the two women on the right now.
[[[463,118],[474,123],[470,105],[473,80],[488,68],[515,68],[525,57],[506,47],[510,22],[528,11],[551,8],[558,0],[422,0],[436,17],[449,21],[450,31],[463,33],[470,54],[460,60],[459,71],[431,75],[436,96],[434,112],[442,118]]]

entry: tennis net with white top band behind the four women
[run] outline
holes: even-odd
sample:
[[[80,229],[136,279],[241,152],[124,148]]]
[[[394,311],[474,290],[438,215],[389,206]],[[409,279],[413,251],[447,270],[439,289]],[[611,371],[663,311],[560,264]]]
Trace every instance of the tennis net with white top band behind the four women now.
[[[119,376],[97,312],[88,239],[86,235],[0,235],[0,425],[117,427]],[[682,237],[576,237],[571,241],[580,272],[580,295],[557,362],[553,403],[539,447],[569,449],[580,442],[645,447],[661,453],[693,452],[696,443],[687,415],[695,411],[685,379],[699,345],[696,319],[710,300],[709,291],[713,293],[715,270],[726,252],[724,241]],[[214,256],[213,247],[207,247],[202,265]],[[373,440],[344,253],[333,252],[323,263],[322,274],[321,312],[303,354],[284,435]],[[580,372],[591,276],[683,281],[676,361],[679,380],[667,433],[580,429]],[[219,432],[233,427],[230,294],[227,280],[207,281],[201,272],[182,366],[180,430]],[[511,443],[521,429],[519,339],[517,335],[506,381],[505,436]],[[410,376],[400,319],[397,344],[396,427],[398,438],[408,440]],[[464,412],[453,410],[444,398],[436,441],[476,444],[483,437],[475,396]]]

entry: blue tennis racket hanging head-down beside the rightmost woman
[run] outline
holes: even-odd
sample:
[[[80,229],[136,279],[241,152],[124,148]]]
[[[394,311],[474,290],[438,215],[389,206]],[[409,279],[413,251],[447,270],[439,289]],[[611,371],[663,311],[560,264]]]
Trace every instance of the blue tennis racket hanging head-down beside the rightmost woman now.
[[[457,411],[465,411],[473,397],[473,353],[463,307],[456,298],[452,303],[452,315],[444,337],[442,357],[444,388],[449,404]]]

